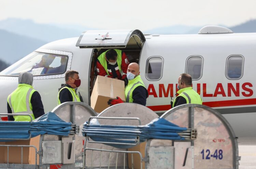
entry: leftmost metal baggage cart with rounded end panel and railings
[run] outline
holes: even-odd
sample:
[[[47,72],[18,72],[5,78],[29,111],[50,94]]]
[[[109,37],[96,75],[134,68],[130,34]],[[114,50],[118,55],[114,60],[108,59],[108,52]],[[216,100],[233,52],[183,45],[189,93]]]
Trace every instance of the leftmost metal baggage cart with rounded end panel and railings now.
[[[8,150],[9,150],[9,147],[21,147],[22,151],[27,147],[32,147],[35,151],[35,159],[36,159],[35,164],[22,164],[22,159],[21,159],[20,164],[10,164],[10,163],[0,164],[0,168],[25,168],[25,169],[26,168],[27,169],[32,169],[32,168],[40,168],[40,169],[74,168],[75,169],[76,168],[78,169],[82,167],[82,154],[83,154],[82,151],[83,151],[84,137],[82,136],[82,132],[80,131],[80,126],[82,129],[84,121],[87,121],[89,117],[96,116],[97,114],[93,109],[91,109],[90,106],[82,102],[65,102],[63,104],[58,105],[56,108],[54,108],[52,112],[53,113],[50,113],[50,114],[55,116],[56,118],[69,122],[68,124],[70,124],[70,132],[68,134],[66,133],[65,135],[59,134],[56,131],[55,131],[56,133],[51,133],[49,132],[49,130],[48,132],[50,134],[41,133],[40,141],[39,141],[39,149],[37,149],[33,145],[31,146],[0,145],[2,147],[4,146],[7,147],[6,149]],[[32,123],[34,123],[34,121]],[[2,122],[6,123],[6,121],[0,121],[0,125]],[[17,123],[20,123],[20,122],[17,122]],[[31,123],[31,122],[27,122],[27,123]],[[55,130],[57,129],[55,128]],[[25,139],[29,139],[29,137],[31,137],[31,134],[27,134]],[[52,135],[52,134],[55,134],[55,135]],[[6,138],[3,138],[3,139],[6,139]],[[10,140],[9,137],[8,139]],[[24,138],[18,138],[18,139],[15,138],[15,140],[20,140],[20,139],[24,139]],[[11,155],[12,154],[8,153],[8,156],[11,156]]]

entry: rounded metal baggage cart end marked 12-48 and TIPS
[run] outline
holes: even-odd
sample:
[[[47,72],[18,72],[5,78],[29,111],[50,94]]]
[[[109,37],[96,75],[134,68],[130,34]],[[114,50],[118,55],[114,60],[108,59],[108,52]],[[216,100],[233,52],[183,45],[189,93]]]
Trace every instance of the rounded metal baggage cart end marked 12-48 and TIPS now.
[[[156,166],[163,169],[239,168],[237,138],[228,121],[216,110],[187,104],[168,110],[160,118],[181,127],[196,128],[197,139],[189,142],[147,140],[146,169]]]

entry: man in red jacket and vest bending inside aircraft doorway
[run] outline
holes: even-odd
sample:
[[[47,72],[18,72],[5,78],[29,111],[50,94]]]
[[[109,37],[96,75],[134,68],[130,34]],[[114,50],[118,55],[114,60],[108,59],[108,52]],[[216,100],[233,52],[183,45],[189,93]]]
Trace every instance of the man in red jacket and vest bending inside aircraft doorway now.
[[[128,84],[127,68],[129,65],[124,52],[118,49],[111,49],[103,52],[97,59],[96,69],[100,76],[123,80],[125,86]]]

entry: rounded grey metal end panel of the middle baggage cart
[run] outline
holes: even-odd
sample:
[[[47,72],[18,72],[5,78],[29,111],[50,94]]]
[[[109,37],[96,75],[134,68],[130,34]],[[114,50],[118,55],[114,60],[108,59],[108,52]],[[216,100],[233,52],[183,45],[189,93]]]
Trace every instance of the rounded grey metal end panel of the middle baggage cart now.
[[[152,111],[151,109],[133,103],[123,103],[111,106],[105,110],[103,110],[97,117],[118,117],[118,118],[139,118],[141,125],[146,125],[150,123],[155,118],[159,116]],[[97,119],[101,125],[129,125],[129,126],[138,126],[138,120],[132,119]],[[85,137],[84,137],[85,138]],[[115,167],[117,166],[124,166],[127,165],[128,161],[124,155],[120,155],[117,152],[124,151],[126,152],[126,148],[115,148],[112,146],[99,144],[99,143],[86,143],[86,156],[85,156],[85,164],[86,166],[93,166],[93,167]],[[106,150],[106,151],[96,151],[96,150],[89,150],[89,149],[99,149],[99,150]],[[110,151],[113,151],[110,153]],[[138,152],[136,152],[138,154]],[[102,157],[102,158],[100,158]],[[117,158],[118,157],[118,158]],[[127,157],[127,154],[126,154]],[[100,161],[101,159],[101,161]],[[116,160],[118,159],[118,160]]]

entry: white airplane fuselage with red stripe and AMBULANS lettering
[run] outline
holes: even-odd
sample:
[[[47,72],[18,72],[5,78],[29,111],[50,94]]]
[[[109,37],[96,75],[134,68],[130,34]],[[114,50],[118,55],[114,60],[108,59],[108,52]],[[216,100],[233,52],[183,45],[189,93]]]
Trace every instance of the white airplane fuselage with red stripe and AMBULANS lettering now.
[[[67,56],[66,71],[79,72],[82,83],[77,91],[84,102],[90,104],[90,85],[94,80],[90,77],[92,58],[96,52],[94,48],[76,46],[77,40],[54,41],[34,52]],[[177,92],[178,77],[181,73],[193,72],[193,89],[200,94],[203,104],[221,112],[238,137],[253,137],[256,129],[255,47],[256,33],[228,33],[148,35],[140,51],[120,50],[128,56],[130,53],[130,58],[133,53],[138,55],[140,75],[149,93],[147,107],[157,113],[169,110],[171,97],[175,98]],[[29,56],[11,67],[28,60]],[[231,63],[238,67],[241,64],[241,70],[232,69]],[[65,73],[34,76],[33,86],[41,95],[45,112],[57,106],[58,88],[65,83],[64,77]],[[18,77],[0,75],[0,83],[1,113],[7,113],[6,99],[16,89]]]

